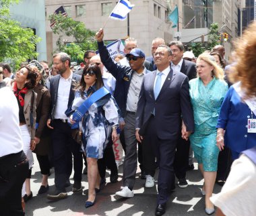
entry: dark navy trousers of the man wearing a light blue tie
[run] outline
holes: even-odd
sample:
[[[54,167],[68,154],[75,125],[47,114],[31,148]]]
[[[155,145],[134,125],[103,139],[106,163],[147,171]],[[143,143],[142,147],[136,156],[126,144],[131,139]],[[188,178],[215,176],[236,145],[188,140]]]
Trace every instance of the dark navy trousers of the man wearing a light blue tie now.
[[[155,158],[159,164],[158,174],[158,205],[163,205],[168,201],[172,184],[174,184],[174,156],[177,147],[177,136],[172,136],[168,140],[162,140],[156,133],[157,125],[152,116],[148,121],[145,136],[143,136],[143,166],[145,172],[154,176]]]

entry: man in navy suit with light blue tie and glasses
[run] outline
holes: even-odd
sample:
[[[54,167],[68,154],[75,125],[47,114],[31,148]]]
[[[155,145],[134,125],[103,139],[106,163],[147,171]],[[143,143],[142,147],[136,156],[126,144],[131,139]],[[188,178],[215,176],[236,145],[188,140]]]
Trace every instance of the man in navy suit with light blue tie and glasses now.
[[[185,139],[194,131],[189,80],[183,73],[170,68],[171,55],[168,46],[158,46],[154,54],[157,70],[143,78],[135,122],[136,138],[143,142],[143,166],[154,174],[155,156],[159,163],[156,215],[165,213],[174,180],[173,162],[181,131]]]

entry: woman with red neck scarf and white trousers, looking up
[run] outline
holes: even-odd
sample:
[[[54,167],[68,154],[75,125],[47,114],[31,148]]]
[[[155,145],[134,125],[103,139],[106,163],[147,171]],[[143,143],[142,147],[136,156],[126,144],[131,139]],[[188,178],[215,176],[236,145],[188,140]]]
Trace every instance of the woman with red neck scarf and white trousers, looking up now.
[[[32,151],[36,147],[36,93],[32,91],[36,85],[37,73],[30,66],[20,68],[15,74],[12,89],[19,105],[20,129],[22,131],[23,150],[28,158],[30,172],[22,188],[22,197],[28,201],[33,195],[30,190],[31,168],[34,162]]]

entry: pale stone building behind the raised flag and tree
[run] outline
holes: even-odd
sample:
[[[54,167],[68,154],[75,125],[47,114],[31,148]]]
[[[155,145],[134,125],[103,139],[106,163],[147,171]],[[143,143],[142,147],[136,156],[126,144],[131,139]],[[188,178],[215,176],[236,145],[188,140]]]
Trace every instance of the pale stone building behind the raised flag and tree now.
[[[135,7],[129,13],[129,36],[137,39],[139,48],[146,53],[146,56],[150,56],[154,38],[164,38],[166,42],[174,39],[175,29],[171,28],[172,24],[167,20],[168,9],[173,9],[174,4],[167,4],[165,0],[131,0],[131,3]],[[108,19],[116,4],[117,0],[46,0],[47,58],[51,59],[58,38],[50,28],[48,17],[58,7],[63,5],[69,17],[84,22],[86,28],[93,31],[98,31],[107,21],[104,27],[104,40],[117,40],[127,37],[127,21]],[[63,40],[71,42],[72,39]]]

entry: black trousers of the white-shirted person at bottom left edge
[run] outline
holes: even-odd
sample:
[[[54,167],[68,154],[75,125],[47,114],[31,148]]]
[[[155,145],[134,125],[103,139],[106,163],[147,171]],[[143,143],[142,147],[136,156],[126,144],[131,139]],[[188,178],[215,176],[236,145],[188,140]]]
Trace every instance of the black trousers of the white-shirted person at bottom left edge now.
[[[0,158],[0,215],[24,215],[22,184],[28,176],[24,152]]]

